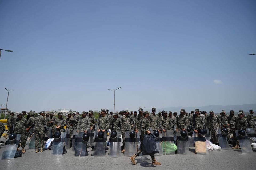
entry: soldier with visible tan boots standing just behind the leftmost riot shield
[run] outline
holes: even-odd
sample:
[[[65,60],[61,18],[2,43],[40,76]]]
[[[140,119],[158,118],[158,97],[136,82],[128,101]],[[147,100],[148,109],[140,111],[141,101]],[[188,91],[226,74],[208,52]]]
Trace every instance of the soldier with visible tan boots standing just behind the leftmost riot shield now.
[[[22,117],[22,113],[18,113],[17,119],[14,121],[14,126],[15,126],[15,133],[16,134],[21,134],[21,143],[18,144],[17,151],[19,151],[19,146],[21,144],[22,148],[22,153],[25,154],[25,145],[26,145],[26,124],[27,120]]]

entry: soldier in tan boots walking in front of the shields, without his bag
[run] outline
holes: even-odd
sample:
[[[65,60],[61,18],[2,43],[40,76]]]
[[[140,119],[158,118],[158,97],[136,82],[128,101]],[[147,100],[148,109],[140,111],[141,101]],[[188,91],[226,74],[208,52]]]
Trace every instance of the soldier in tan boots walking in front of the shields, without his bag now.
[[[141,122],[140,122],[140,127],[138,127],[140,130],[141,130],[141,145],[140,145],[140,148],[139,150],[132,156],[130,157],[130,160],[131,162],[136,165],[136,162],[135,162],[135,158],[142,152],[143,150],[143,138],[144,138],[144,135],[145,134],[150,134],[150,130],[149,130],[149,127],[150,127],[150,122],[149,122],[149,112],[148,111],[145,111],[143,112],[143,116],[144,118],[142,118]],[[155,146],[156,148],[156,146]],[[152,165],[161,165],[160,162],[157,162],[155,160],[155,156],[154,156],[154,153],[151,153],[150,154],[150,157],[152,159]]]

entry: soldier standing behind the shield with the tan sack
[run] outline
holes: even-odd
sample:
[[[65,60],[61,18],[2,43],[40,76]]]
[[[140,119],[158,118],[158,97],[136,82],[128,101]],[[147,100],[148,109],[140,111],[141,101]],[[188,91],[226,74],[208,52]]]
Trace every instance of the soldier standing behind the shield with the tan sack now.
[[[195,109],[195,114],[192,116],[192,129],[198,133],[199,129],[205,127],[205,116],[202,114],[199,115],[199,110]]]

